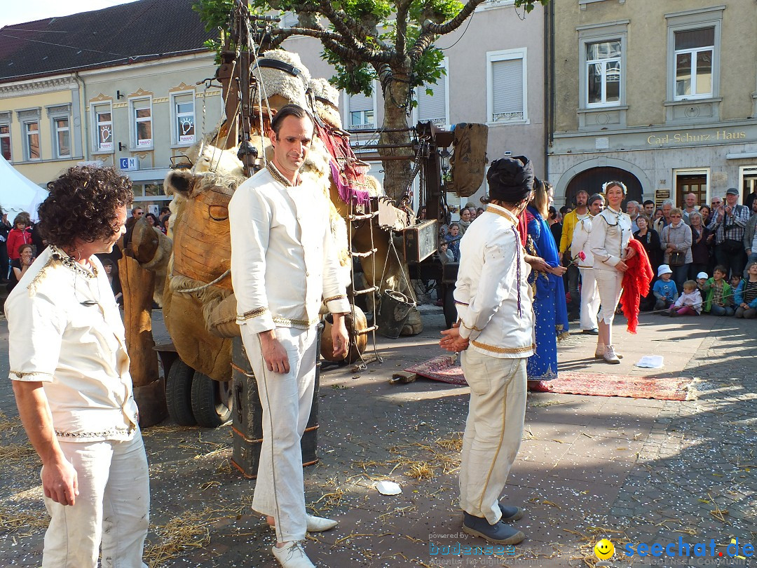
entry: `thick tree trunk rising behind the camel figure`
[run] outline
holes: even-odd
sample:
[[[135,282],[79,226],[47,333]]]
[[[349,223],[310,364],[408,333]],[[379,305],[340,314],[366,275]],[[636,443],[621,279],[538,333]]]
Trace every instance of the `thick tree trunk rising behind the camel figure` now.
[[[409,62],[408,67],[409,70]],[[407,128],[407,95],[410,85],[407,80],[410,73],[405,69],[392,69],[391,78],[382,85],[384,94],[384,128]],[[382,133],[381,144],[408,144],[409,132]],[[413,155],[413,148],[393,148],[382,150],[385,155]],[[413,169],[412,160],[387,160],[384,167],[384,189],[394,201],[400,199],[410,184],[410,173]]]

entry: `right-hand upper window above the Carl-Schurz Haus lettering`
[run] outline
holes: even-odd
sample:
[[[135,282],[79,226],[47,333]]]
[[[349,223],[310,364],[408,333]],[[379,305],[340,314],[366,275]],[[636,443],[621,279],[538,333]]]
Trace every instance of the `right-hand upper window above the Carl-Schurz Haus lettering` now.
[[[712,96],[715,27],[674,32],[675,100]]]

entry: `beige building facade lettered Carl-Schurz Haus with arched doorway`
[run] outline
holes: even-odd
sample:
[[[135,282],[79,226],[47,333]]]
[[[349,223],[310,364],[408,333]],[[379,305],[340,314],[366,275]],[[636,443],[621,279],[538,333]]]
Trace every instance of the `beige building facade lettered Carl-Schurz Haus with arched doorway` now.
[[[619,179],[700,203],[757,184],[752,0],[553,0],[549,179],[557,201]]]

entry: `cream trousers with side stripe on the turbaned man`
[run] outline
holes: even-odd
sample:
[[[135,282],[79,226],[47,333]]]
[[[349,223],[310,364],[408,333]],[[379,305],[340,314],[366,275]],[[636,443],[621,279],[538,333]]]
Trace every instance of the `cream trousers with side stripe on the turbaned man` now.
[[[460,507],[492,525],[502,517],[498,501],[523,436],[527,361],[473,349],[462,354],[471,398],[460,463]]]

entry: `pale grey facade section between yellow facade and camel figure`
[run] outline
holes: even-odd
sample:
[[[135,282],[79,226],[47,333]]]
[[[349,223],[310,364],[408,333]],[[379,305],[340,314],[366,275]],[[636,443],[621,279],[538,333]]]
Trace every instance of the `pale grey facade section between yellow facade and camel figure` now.
[[[171,165],[221,119],[221,90],[204,83],[215,67],[204,51],[80,73],[87,159],[129,176],[145,212],[167,206]]]

